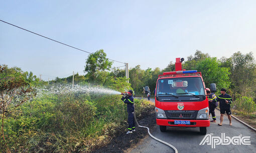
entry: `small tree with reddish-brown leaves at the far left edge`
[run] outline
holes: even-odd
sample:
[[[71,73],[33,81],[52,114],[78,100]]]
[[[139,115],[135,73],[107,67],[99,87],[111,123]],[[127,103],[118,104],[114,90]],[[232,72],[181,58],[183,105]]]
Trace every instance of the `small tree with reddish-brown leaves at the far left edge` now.
[[[4,119],[17,107],[35,96],[35,90],[26,82],[18,67],[0,66],[0,113],[2,118],[1,135],[5,142]],[[6,142],[5,142],[6,143]]]

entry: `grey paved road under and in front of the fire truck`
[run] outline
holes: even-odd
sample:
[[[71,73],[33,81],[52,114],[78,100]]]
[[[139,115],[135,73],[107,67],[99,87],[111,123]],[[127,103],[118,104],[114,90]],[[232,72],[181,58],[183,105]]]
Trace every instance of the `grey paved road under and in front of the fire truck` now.
[[[154,101],[154,99],[151,99]],[[217,115],[217,122],[219,122],[220,112],[215,110]],[[221,133],[225,133],[225,136],[232,138],[233,136],[250,136],[250,145],[216,145],[212,148],[211,145],[199,145],[205,135],[199,133],[199,127],[194,128],[181,128],[181,127],[168,127],[166,132],[161,132],[159,126],[151,131],[151,133],[172,145],[174,145],[178,152],[256,152],[256,132],[238,122],[232,118],[232,126],[229,126],[227,116],[224,116],[222,126],[218,126],[216,123],[211,123],[210,127],[207,127],[207,134],[212,133],[212,136],[221,136]],[[134,148],[131,152],[174,152],[169,146],[158,142],[150,136],[144,139],[141,145]]]

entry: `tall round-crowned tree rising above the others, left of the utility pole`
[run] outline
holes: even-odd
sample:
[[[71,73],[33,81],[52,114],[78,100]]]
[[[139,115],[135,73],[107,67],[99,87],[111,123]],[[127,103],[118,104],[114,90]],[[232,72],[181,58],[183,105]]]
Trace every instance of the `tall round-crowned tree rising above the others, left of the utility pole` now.
[[[86,65],[84,66],[84,72],[87,72],[86,75],[89,76],[91,81],[95,81],[97,77],[97,72],[110,70],[112,65],[112,61],[109,61],[106,58],[106,53],[103,49],[97,50],[94,53],[89,54],[88,58],[86,59]]]

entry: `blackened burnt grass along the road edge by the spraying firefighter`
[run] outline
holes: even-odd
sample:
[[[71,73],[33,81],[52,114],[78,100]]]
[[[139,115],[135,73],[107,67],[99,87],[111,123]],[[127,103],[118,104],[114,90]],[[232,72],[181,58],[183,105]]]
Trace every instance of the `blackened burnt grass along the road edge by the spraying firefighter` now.
[[[148,111],[137,116],[140,125],[147,126],[152,129],[156,125],[155,106],[150,107]],[[135,146],[140,140],[148,135],[147,128],[138,127],[136,131],[126,134],[127,128],[119,129],[112,135],[112,139],[108,144],[100,148],[95,148],[92,152],[125,152],[126,149]]]

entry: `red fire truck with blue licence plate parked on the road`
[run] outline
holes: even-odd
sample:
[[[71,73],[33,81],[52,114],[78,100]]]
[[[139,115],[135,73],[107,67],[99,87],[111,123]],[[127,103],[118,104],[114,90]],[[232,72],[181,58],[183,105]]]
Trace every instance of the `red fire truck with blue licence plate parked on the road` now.
[[[156,85],[156,119],[161,131],[167,126],[210,126],[209,104],[201,72],[182,69],[184,58],[176,58],[175,70],[159,75]],[[211,89],[214,90],[214,83]],[[215,86],[216,88],[216,86]]]

